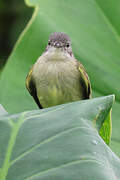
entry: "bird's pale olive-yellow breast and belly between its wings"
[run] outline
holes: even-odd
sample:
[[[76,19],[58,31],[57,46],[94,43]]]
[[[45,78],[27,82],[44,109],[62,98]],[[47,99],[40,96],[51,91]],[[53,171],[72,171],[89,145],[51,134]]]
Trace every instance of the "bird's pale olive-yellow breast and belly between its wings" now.
[[[33,79],[43,107],[82,99],[80,73],[74,59],[41,57],[34,65]]]

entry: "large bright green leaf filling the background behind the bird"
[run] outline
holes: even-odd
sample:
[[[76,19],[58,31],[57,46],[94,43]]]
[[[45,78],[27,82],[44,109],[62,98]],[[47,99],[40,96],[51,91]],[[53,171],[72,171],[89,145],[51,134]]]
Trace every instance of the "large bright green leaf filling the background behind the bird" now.
[[[112,144],[120,154],[119,3],[118,0],[27,0],[35,11],[2,73],[0,103],[12,113],[37,108],[25,89],[26,74],[45,49],[49,33],[64,31],[71,37],[75,56],[87,69],[93,95],[116,95]]]

